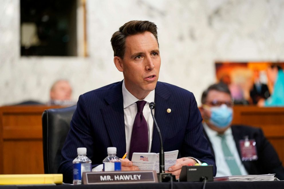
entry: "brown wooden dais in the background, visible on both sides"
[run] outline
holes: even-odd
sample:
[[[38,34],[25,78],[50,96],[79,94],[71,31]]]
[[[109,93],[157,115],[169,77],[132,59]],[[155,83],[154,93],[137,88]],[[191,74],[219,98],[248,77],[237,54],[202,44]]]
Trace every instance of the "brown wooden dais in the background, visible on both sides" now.
[[[0,107],[0,174],[43,174],[42,113],[59,106]],[[235,106],[234,124],[260,127],[284,162],[284,108]]]

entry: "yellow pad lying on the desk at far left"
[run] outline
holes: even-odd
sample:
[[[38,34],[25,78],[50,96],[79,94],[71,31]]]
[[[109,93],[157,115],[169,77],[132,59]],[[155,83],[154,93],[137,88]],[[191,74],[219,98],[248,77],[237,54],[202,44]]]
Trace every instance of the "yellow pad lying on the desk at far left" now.
[[[62,174],[5,174],[0,175],[0,185],[62,184]]]

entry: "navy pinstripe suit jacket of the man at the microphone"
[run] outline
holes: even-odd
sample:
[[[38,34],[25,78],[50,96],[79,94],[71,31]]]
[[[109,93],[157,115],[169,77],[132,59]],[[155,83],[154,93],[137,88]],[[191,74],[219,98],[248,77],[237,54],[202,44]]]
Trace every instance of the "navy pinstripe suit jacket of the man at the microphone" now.
[[[202,130],[202,118],[194,95],[180,87],[157,82],[155,118],[161,130],[165,152],[179,150],[179,157],[194,157],[216,165]],[[171,113],[167,113],[167,109]],[[70,123],[70,131],[62,148],[58,169],[64,182],[72,182],[72,160],[78,147],[87,148],[93,167],[107,156],[107,147],[117,147],[117,156],[126,152],[122,81],[87,92],[79,97]],[[153,129],[151,152],[160,150],[159,135]]]

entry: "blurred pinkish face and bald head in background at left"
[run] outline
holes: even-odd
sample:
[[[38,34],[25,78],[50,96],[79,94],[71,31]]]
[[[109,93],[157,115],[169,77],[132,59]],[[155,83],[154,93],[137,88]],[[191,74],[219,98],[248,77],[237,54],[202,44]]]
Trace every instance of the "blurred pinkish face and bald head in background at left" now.
[[[50,99],[51,100],[71,100],[72,88],[68,81],[60,80],[56,82],[51,91]]]

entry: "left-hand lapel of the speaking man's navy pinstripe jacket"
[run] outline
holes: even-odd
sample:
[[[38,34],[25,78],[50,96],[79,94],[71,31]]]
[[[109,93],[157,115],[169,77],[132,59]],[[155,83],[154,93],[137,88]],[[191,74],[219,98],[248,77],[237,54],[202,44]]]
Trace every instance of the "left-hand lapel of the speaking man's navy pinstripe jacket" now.
[[[111,143],[117,147],[117,155],[121,157],[126,152],[122,81],[110,90],[104,100],[109,104],[101,109],[104,123]]]

